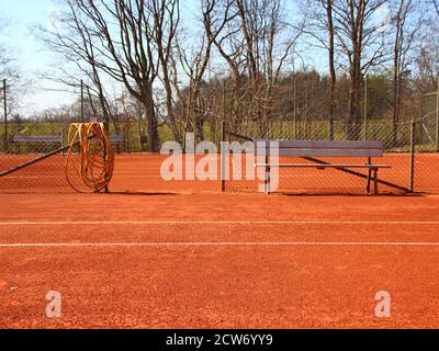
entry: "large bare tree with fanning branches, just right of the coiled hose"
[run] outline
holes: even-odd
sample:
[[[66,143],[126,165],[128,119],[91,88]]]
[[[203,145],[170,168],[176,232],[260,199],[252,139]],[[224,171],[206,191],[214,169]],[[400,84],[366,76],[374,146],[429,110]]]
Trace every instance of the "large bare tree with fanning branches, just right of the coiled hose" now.
[[[162,81],[169,88],[167,65],[178,24],[179,1],[65,1],[70,9],[69,25],[79,41],[61,41],[64,48],[72,44],[77,57],[89,65],[86,70],[98,87],[98,95],[102,98],[100,77],[104,75],[122,82],[142,103],[148,120],[149,148],[158,151],[159,121],[154,87],[161,67]],[[168,110],[171,111],[169,101],[168,97]]]

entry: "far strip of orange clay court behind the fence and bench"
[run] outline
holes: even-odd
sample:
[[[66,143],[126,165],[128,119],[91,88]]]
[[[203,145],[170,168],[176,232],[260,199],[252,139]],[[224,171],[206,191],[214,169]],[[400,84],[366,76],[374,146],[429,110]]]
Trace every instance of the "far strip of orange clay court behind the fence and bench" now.
[[[0,155],[0,170],[8,170],[23,162],[36,158],[37,155]],[[219,181],[164,181],[160,177],[160,166],[167,156],[133,154],[117,155],[115,161],[114,178],[111,184],[112,192],[115,193],[185,193],[198,194],[203,192],[215,193],[221,191]],[[196,156],[195,163],[204,156]],[[211,156],[216,161],[216,174],[221,174],[221,158],[216,155]],[[246,158],[243,157],[241,165],[236,160],[229,159],[229,177],[226,190],[228,192],[257,192],[258,186],[263,183],[263,177],[256,177],[256,180],[245,179]],[[327,162],[339,163],[337,158],[324,158]],[[0,179],[1,193],[71,193],[71,189],[65,181],[64,165],[66,156],[55,156],[47,160],[35,163]],[[363,163],[364,159],[342,158],[344,163]],[[282,163],[305,163],[306,161],[294,157],[281,157]],[[383,158],[375,158],[375,163],[390,165],[391,169],[383,169],[379,173],[380,180],[396,184],[398,186],[409,186],[409,165],[408,154],[387,154]],[[365,174],[365,170],[357,170]],[[243,180],[234,180],[233,173],[237,172]],[[185,174],[185,167],[182,168]],[[415,191],[425,193],[439,193],[439,154],[418,154],[415,158]],[[255,174],[254,174],[255,176]],[[288,168],[280,171],[279,191],[292,194],[363,194],[365,180],[346,174],[338,170],[316,170]],[[401,194],[396,188],[380,184],[381,193]]]

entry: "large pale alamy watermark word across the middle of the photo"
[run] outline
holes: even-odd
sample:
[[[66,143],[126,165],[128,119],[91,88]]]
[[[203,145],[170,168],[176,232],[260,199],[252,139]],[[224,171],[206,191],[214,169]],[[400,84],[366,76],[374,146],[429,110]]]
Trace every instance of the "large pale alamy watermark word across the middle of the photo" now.
[[[259,191],[266,192],[269,180],[271,191],[279,188],[279,141],[222,141],[218,150],[211,141],[195,145],[188,133],[184,147],[168,141],[160,154],[169,155],[160,167],[166,181],[259,181]]]

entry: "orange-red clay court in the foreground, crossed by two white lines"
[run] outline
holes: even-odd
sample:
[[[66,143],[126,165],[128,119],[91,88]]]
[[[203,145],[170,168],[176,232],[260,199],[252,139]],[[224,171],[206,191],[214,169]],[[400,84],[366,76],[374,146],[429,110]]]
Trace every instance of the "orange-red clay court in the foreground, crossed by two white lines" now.
[[[113,194],[0,194],[0,327],[439,327],[439,196],[222,194],[127,159]]]

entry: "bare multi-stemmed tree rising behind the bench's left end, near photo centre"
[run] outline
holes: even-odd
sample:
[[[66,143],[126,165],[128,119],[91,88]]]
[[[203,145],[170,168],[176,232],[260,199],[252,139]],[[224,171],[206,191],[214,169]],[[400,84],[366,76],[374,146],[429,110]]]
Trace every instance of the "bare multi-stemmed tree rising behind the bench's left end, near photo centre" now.
[[[232,73],[232,124],[252,120],[263,132],[271,118],[273,88],[302,33],[286,23],[282,4],[280,0],[222,0],[212,25],[206,26],[210,35],[218,33],[214,45]],[[225,19],[223,29],[217,25],[224,23],[221,19]]]

